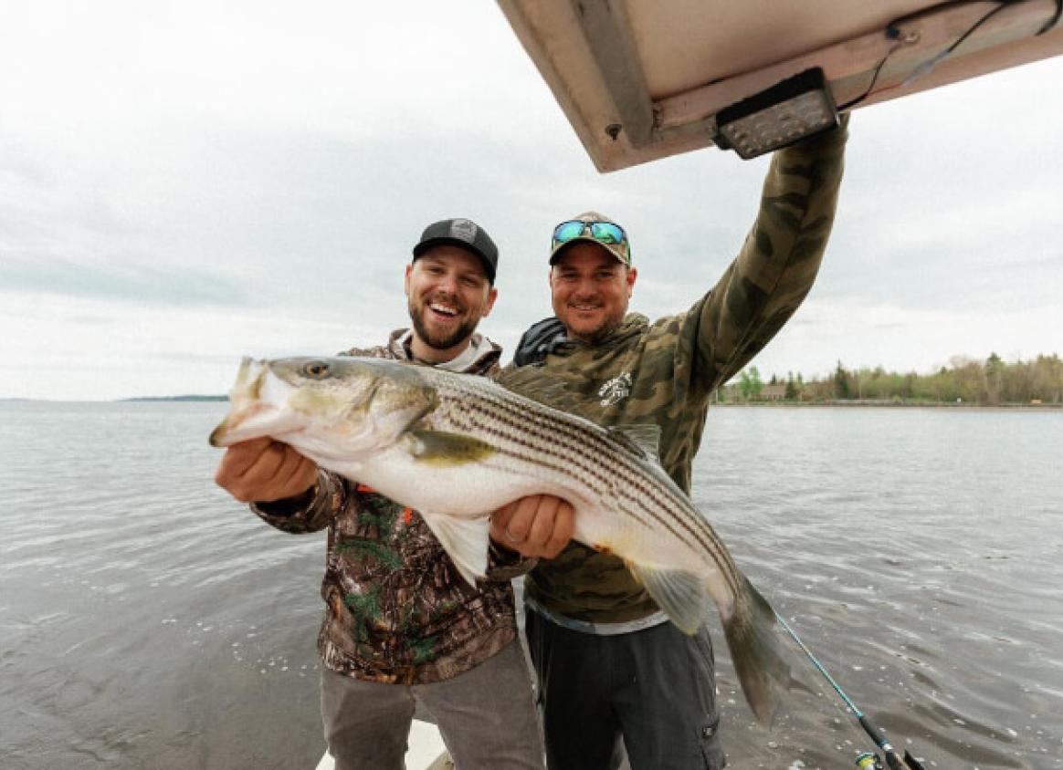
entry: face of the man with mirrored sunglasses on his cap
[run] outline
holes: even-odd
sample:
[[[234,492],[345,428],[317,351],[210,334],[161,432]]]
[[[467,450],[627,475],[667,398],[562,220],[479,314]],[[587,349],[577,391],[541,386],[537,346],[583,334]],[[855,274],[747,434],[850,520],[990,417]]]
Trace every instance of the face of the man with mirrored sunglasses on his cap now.
[[[594,343],[620,326],[637,272],[595,243],[568,246],[550,269],[554,313],[569,337]]]

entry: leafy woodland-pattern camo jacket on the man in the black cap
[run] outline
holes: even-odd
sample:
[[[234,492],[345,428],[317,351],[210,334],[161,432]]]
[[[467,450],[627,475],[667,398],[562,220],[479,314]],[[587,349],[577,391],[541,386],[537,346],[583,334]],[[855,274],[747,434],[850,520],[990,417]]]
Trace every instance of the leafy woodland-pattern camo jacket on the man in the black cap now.
[[[393,332],[387,346],[343,355],[409,360],[404,333]],[[473,337],[469,350],[450,363],[470,374],[497,369],[502,349]],[[321,469],[308,497],[252,510],[286,532],[328,529],[318,636],[325,667],[362,680],[424,684],[468,671],[516,638],[509,580],[534,560],[512,554],[507,562],[492,546],[490,580],[477,591],[416,511]]]

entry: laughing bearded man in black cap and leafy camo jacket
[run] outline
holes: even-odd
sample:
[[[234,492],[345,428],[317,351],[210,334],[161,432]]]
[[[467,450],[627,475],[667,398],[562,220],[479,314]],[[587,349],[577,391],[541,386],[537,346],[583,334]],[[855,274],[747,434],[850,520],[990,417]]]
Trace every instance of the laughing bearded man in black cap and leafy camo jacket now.
[[[428,225],[406,266],[412,329],[341,355],[496,370],[502,349],[475,332],[494,305],[496,264],[494,243],[475,223]],[[435,719],[459,768],[542,768],[509,583],[534,561],[492,545],[487,580],[473,588],[417,511],[270,439],[227,449],[216,481],[277,529],[328,531],[318,649],[337,770],[403,768],[416,706]],[[555,555],[571,536],[571,507],[547,507],[551,526],[522,537],[527,554]]]

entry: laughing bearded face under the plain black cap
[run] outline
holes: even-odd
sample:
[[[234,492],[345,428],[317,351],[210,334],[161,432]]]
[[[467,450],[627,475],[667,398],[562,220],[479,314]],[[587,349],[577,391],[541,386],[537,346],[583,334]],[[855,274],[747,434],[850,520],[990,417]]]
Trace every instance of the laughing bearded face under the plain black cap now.
[[[406,267],[414,355],[434,363],[458,356],[496,295],[475,255],[450,244],[426,251]]]

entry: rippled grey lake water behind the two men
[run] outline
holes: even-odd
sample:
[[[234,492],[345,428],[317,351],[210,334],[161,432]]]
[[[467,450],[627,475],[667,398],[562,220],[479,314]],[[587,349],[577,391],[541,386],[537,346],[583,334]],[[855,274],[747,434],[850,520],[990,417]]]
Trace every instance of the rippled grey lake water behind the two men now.
[[[0,403],[0,767],[313,768],[323,535],[213,483],[224,404]],[[714,408],[695,501],[893,742],[1063,768],[1063,413]],[[735,768],[868,741],[795,651],[755,724],[715,635]]]

